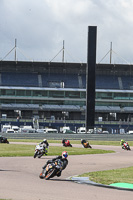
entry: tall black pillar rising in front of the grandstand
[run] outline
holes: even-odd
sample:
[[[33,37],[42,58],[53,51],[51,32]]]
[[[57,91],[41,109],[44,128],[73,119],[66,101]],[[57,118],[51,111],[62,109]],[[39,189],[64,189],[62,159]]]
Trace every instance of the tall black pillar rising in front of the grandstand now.
[[[86,67],[86,131],[94,128],[95,122],[95,66],[97,27],[88,27]]]

